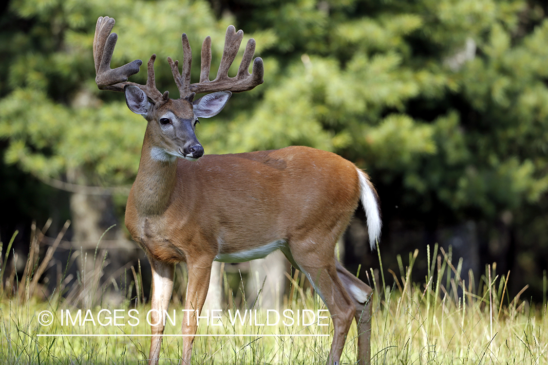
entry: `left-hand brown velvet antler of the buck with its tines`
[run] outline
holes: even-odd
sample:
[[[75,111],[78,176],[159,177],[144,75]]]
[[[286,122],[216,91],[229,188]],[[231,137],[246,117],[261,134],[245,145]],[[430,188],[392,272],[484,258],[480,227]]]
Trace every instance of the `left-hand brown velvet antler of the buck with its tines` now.
[[[95,83],[101,90],[124,91],[125,85],[138,86],[154,102],[167,100],[167,91],[162,93],[156,88],[154,76],[154,61],[156,55],[150,57],[148,63],[148,76],[145,85],[128,82],[128,77],[139,72],[142,65],[141,60],[135,60],[126,63],[117,68],[110,68],[112,54],[118,40],[116,33],[111,33],[115,25],[115,20],[108,16],[100,16],[95,27],[95,36],[93,38],[93,59],[95,62]]]

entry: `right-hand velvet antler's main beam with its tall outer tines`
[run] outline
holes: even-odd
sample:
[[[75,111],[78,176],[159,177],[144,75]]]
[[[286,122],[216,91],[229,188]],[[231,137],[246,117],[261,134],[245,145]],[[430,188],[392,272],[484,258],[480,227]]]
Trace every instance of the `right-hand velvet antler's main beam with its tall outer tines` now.
[[[209,71],[211,67],[211,38],[207,37],[202,44],[202,64],[200,73],[200,82],[191,84],[190,91],[196,94],[215,91],[242,92],[253,89],[262,84],[264,76],[264,67],[262,60],[257,57],[253,62],[253,73],[249,73],[248,68],[255,53],[255,40],[249,39],[242,62],[238,68],[236,77],[229,77],[229,68],[238,54],[238,49],[242,43],[243,32],[236,32],[234,26],[229,26],[226,30],[225,48],[219,65],[219,70],[215,80],[209,81]]]

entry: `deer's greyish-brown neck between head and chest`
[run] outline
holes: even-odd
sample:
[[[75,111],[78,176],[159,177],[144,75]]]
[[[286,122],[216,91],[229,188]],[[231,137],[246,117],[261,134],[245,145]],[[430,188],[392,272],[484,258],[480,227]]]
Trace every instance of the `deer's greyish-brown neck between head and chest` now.
[[[176,172],[177,159],[158,158],[147,129],[139,171],[132,187],[134,204],[140,215],[162,215],[168,208],[176,185]]]

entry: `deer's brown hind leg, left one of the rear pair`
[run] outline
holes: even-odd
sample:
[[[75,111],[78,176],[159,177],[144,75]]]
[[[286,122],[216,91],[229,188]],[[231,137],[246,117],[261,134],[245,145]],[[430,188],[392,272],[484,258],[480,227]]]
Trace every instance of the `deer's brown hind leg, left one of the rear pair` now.
[[[311,242],[308,242],[308,247]],[[318,246],[312,244],[313,246]],[[334,246],[334,245],[333,245]],[[293,248],[293,247],[292,247]],[[333,321],[333,341],[327,360],[328,365],[339,365],[340,357],[343,354],[343,347],[346,341],[346,335],[352,324],[356,313],[356,306],[353,298],[347,293],[343,283],[339,279],[336,260],[332,248],[329,249],[329,256],[326,260],[321,254],[322,250],[311,251],[310,248],[299,250],[293,248],[293,257],[288,256],[296,267],[304,271],[319,296],[326,303]],[[326,250],[327,251],[327,250]],[[305,254],[296,254],[297,252],[306,252]],[[324,252],[325,253],[325,252]]]

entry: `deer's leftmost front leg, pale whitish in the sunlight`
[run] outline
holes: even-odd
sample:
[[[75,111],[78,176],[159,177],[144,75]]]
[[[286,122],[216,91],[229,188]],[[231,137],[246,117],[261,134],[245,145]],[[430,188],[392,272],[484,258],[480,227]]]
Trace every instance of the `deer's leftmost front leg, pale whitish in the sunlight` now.
[[[164,310],[168,309],[169,300],[173,292],[173,264],[149,259],[152,268],[152,309],[150,323],[152,323],[152,337],[150,340],[149,365],[157,365],[162,346],[164,333]]]

